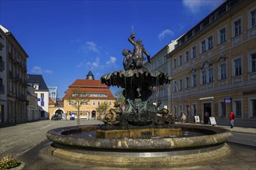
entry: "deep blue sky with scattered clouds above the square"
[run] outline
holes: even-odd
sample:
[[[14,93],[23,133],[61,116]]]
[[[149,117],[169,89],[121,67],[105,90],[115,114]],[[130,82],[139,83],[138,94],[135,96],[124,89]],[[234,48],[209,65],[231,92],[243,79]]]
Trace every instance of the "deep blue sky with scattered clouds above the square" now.
[[[95,79],[123,70],[123,49],[136,39],[154,56],[225,0],[0,0],[0,25],[29,55],[27,73],[42,74],[58,97],[91,69]],[[114,93],[116,88],[112,88]]]

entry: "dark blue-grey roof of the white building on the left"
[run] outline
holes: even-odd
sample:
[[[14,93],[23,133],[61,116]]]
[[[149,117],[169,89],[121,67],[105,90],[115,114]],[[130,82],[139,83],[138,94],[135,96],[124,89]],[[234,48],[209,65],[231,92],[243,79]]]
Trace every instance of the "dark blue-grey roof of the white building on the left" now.
[[[47,84],[43,80],[43,76],[40,74],[28,74],[26,78],[26,83],[31,84],[38,84],[39,88],[36,91],[49,91]]]

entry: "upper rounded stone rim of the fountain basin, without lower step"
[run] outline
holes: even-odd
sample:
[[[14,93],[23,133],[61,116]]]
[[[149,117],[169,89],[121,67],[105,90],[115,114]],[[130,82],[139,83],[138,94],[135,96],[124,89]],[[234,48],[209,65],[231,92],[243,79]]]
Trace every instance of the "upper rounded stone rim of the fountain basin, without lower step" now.
[[[221,145],[232,138],[232,133],[223,128],[202,125],[175,124],[182,131],[196,131],[200,136],[192,137],[158,137],[158,138],[95,138],[95,136],[73,136],[81,131],[97,131],[100,125],[84,125],[79,127],[56,128],[47,132],[47,138],[56,146],[71,146],[111,151],[177,151],[189,148],[207,148]]]

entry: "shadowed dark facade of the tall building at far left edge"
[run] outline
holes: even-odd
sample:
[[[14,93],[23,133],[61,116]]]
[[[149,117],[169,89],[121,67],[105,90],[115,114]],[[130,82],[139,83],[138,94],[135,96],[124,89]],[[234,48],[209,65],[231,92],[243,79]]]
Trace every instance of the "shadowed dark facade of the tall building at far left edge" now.
[[[1,29],[1,122],[26,122],[26,59],[28,55],[5,27]],[[7,105],[6,105],[7,104]]]

